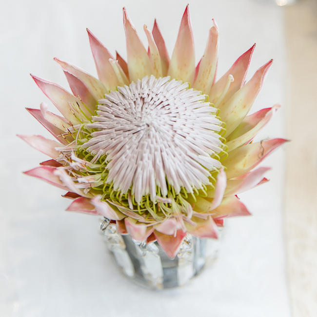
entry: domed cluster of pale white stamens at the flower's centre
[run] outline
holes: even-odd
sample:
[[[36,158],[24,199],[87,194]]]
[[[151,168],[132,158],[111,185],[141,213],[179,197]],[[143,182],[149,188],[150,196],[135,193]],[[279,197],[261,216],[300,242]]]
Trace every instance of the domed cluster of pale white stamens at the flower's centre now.
[[[114,190],[131,189],[139,202],[148,194],[155,201],[157,188],[166,197],[168,184],[176,194],[210,184],[210,172],[221,166],[212,156],[221,151],[222,122],[206,96],[188,87],[150,76],[99,100],[97,116],[87,124],[98,131],[83,147],[94,161],[106,154],[106,181]]]

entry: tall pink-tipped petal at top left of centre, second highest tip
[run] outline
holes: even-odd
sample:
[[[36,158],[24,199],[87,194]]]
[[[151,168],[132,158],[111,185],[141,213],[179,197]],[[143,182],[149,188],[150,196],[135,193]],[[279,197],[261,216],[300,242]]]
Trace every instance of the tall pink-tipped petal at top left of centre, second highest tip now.
[[[123,8],[123,24],[127,45],[129,77],[131,81],[137,81],[137,79],[151,75],[152,66],[137,31],[128,18],[125,8]]]

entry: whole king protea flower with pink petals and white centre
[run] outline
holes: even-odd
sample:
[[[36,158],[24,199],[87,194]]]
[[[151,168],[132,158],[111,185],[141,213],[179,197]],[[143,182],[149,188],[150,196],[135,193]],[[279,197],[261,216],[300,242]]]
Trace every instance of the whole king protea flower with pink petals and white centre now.
[[[99,79],[59,59],[73,94],[32,76],[62,117],[27,109],[56,140],[20,136],[51,158],[25,174],[65,190],[68,211],[174,257],[187,233],[217,238],[224,218],[249,215],[237,194],[267,181],[269,168],[254,168],[286,140],[251,141],[278,106],[247,114],[272,60],[245,82],[254,45],[215,80],[215,22],[197,66],[188,6],[171,58],[156,21],[148,50],[125,8],[123,23],[127,62],[87,30]]]

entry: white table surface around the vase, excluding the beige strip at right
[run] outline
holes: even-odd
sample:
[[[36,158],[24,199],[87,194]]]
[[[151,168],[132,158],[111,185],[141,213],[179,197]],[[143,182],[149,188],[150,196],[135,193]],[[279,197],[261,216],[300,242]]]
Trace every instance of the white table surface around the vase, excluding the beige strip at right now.
[[[98,219],[67,213],[63,192],[21,171],[46,157],[15,134],[49,134],[24,107],[47,101],[33,73],[67,87],[53,57],[96,74],[88,27],[112,52],[125,55],[122,7],[141,34],[154,17],[170,54],[188,1],[22,1],[0,12],[0,316],[14,317],[289,317],[284,263],[284,155],[262,166],[271,181],[241,195],[253,216],[226,222],[218,260],[187,286],[152,292],[122,276],[99,235]],[[257,42],[249,76],[275,59],[253,111],[284,101],[281,8],[272,1],[190,1],[200,58],[211,19],[220,30],[218,74]],[[53,105],[50,105],[54,109]],[[283,109],[258,137],[283,137]]]

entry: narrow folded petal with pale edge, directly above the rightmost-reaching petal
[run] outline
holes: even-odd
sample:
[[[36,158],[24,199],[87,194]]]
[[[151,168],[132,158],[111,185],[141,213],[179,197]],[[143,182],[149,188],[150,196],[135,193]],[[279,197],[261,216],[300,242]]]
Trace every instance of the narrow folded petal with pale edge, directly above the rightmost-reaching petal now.
[[[250,142],[260,129],[262,129],[272,118],[274,112],[280,107],[275,105],[272,108],[262,109],[253,115],[247,116],[238,127],[227,138],[227,152]]]

